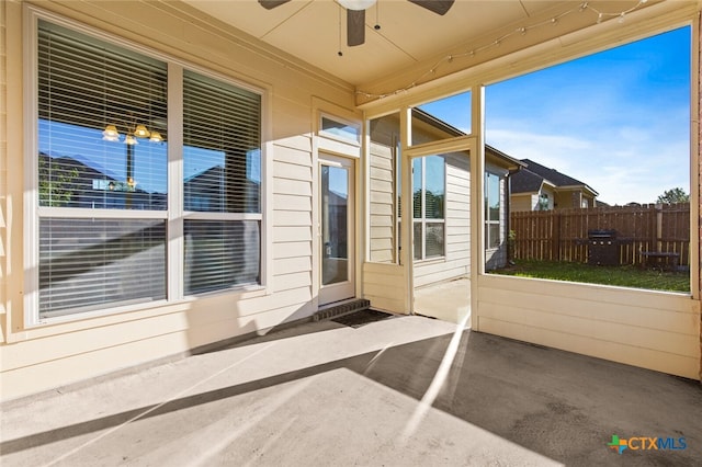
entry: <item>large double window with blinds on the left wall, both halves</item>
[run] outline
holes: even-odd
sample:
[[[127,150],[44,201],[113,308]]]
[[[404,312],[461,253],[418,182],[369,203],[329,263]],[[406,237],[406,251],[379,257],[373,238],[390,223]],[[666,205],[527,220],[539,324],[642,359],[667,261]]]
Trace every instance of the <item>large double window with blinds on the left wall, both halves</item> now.
[[[36,34],[33,319],[260,284],[260,94],[185,70],[168,95],[163,60],[41,19]],[[170,162],[184,175],[169,184],[167,110],[181,99]]]

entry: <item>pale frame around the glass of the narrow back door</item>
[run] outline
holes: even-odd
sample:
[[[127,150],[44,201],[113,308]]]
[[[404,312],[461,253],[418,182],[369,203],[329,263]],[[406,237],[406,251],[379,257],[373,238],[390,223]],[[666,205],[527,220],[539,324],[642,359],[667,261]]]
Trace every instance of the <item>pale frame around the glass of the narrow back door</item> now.
[[[348,158],[342,156],[335,156],[330,152],[320,151],[317,158],[317,206],[318,216],[317,216],[317,298],[318,306],[326,306],[336,301],[341,301],[349,298],[354,298],[356,295],[356,203],[355,203],[355,190],[358,182],[356,174],[356,160],[355,158]],[[321,168],[324,166],[327,167],[336,167],[336,168],[344,168],[349,170],[349,180],[348,180],[348,197],[347,197],[347,261],[348,261],[348,280],[335,284],[324,285],[322,274],[324,274],[324,259],[325,259],[325,242],[322,239],[322,210],[324,210],[324,196],[321,195]]]

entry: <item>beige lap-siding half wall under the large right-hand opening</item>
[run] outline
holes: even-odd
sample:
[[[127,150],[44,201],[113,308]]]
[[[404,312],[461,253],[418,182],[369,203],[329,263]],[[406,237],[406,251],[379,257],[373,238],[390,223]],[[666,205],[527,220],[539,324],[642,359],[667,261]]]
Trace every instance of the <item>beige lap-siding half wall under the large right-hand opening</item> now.
[[[700,304],[677,294],[480,276],[477,330],[699,378]]]

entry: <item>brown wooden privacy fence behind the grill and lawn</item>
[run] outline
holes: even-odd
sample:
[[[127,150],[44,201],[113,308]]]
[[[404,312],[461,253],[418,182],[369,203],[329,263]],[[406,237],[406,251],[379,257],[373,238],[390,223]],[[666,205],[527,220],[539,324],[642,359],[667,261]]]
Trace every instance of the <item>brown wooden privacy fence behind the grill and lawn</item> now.
[[[588,231],[614,230],[619,264],[641,264],[642,251],[678,253],[690,264],[690,204],[525,210],[510,215],[513,258],[588,262]]]

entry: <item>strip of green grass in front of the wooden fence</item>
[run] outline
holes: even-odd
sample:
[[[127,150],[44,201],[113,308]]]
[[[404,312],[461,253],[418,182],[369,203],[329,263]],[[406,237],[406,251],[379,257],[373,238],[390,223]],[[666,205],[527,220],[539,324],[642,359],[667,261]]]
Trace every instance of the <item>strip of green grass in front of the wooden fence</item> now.
[[[690,292],[690,275],[687,272],[661,272],[635,266],[592,266],[559,261],[519,260],[514,265],[491,273],[654,291]]]

